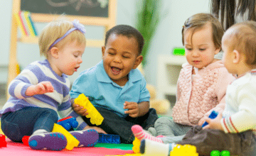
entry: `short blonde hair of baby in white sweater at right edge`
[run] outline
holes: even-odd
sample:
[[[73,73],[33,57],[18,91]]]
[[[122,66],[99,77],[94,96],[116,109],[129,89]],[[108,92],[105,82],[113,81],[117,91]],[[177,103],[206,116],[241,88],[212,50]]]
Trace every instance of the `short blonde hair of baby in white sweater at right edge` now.
[[[256,65],[256,22],[245,21],[231,26],[230,48],[245,55],[247,65]],[[227,31],[228,31],[227,30]]]

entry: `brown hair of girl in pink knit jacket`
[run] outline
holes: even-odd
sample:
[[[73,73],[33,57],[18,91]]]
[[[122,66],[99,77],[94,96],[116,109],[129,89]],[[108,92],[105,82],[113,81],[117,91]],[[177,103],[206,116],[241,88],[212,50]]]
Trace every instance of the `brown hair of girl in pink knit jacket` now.
[[[211,28],[213,30],[213,43],[215,45],[215,48],[221,48],[221,38],[223,37],[224,30],[220,22],[218,21],[218,19],[215,18],[210,13],[197,13],[186,20],[181,31],[182,44],[184,45],[185,30],[193,29],[192,31],[192,35],[193,35],[193,33],[196,30],[203,28],[203,26],[206,26],[207,23],[210,23]],[[191,35],[191,38],[192,38],[192,35]]]

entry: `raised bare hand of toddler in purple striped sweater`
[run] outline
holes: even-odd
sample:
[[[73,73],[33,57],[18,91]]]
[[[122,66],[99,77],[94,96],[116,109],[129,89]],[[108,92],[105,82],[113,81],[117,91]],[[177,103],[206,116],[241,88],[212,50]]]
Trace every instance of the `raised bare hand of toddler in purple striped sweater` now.
[[[28,87],[25,94],[26,96],[34,96],[53,92],[53,90],[53,85],[50,82],[40,82],[39,84]]]

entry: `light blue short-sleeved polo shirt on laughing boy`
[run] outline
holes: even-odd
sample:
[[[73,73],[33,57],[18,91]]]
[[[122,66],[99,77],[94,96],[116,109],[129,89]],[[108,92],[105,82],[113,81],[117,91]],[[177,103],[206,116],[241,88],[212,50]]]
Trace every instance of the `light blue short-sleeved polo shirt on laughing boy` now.
[[[95,67],[86,69],[75,79],[70,91],[71,99],[85,94],[95,107],[107,108],[119,116],[126,117],[124,102],[149,101],[149,91],[146,89],[146,80],[139,69],[132,69],[129,74],[129,81],[120,87],[112,82],[100,61]]]

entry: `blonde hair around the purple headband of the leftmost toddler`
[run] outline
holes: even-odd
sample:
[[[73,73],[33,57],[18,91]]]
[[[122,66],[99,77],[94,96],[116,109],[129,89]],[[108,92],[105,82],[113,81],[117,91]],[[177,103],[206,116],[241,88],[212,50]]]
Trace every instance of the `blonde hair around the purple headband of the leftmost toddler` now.
[[[73,23],[63,17],[48,23],[39,36],[38,45],[40,48],[40,55],[47,58],[50,45],[52,45],[58,38],[61,38],[71,28],[74,28]],[[60,40],[57,44],[53,45],[53,47],[61,49],[63,48],[63,45],[72,43],[73,41],[76,41],[78,45],[85,44],[85,35],[81,33],[80,30],[73,30],[73,32],[63,38],[63,40]]]

